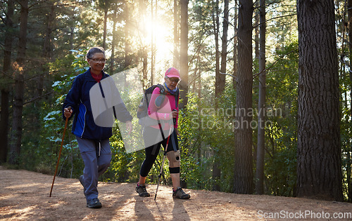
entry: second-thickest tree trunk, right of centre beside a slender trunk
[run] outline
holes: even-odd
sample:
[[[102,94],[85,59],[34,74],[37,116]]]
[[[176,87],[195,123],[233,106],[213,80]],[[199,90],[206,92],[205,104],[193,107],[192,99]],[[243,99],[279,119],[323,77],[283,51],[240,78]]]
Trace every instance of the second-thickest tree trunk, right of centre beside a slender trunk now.
[[[234,192],[253,193],[252,156],[252,15],[253,2],[239,0],[237,107],[234,122]]]

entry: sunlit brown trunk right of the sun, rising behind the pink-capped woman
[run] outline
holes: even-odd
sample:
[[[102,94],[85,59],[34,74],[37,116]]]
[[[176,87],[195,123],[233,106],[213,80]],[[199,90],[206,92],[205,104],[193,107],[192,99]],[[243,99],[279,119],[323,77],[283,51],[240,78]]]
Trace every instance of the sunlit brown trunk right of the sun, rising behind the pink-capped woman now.
[[[180,109],[187,107],[188,93],[188,0],[180,0],[181,34],[180,34]]]

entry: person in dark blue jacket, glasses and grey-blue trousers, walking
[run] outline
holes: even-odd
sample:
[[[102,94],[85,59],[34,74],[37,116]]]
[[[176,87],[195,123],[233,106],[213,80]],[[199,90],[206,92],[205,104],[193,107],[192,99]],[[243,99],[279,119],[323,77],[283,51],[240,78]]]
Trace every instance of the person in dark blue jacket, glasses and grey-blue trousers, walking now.
[[[111,126],[98,126],[94,121],[92,102],[94,99],[89,94],[96,83],[101,86],[101,81],[108,78],[103,72],[106,57],[103,48],[94,47],[87,53],[89,69],[79,74],[73,81],[72,88],[63,103],[63,115],[70,118],[75,114],[72,133],[76,135],[78,147],[84,161],[83,175],[80,182],[84,187],[84,196],[88,208],[101,208],[98,199],[98,178],[102,175],[111,162],[111,147],[109,138],[112,135]],[[120,100],[114,108],[118,120],[125,122],[127,129],[132,130],[132,116],[127,111],[120,98],[117,88],[112,89],[114,99]],[[99,91],[100,93],[100,91]],[[105,97],[102,96],[102,99]],[[113,120],[113,116],[111,118]],[[112,125],[112,124],[111,124]]]

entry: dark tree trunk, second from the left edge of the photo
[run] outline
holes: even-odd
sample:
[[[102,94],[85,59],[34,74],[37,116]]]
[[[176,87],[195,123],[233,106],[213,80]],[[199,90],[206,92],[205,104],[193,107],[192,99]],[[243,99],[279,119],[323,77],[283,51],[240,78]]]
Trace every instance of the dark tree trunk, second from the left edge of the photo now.
[[[25,46],[27,42],[27,19],[28,19],[28,0],[20,1],[20,36],[18,41],[18,55],[15,68],[15,95],[13,100],[13,121],[11,132],[10,156],[8,162],[11,164],[19,163],[21,138],[22,138],[22,110],[24,96],[25,79]]]

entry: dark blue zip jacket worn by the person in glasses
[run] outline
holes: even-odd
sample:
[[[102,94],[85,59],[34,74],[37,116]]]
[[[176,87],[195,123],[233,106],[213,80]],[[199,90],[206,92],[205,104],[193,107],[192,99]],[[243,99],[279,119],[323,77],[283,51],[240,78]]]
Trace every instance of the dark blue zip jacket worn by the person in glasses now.
[[[108,74],[103,72],[101,80],[106,79],[108,76]],[[65,102],[63,102],[63,109],[66,107],[73,109],[75,119],[73,120],[72,133],[77,137],[89,140],[105,140],[110,138],[113,133],[111,127],[97,126],[94,122],[89,91],[96,83],[90,69],[76,76]],[[119,93],[118,97],[120,100]],[[132,120],[132,116],[123,102],[115,106],[115,111],[118,120],[122,122]],[[65,119],[65,116],[63,116],[63,119]]]

